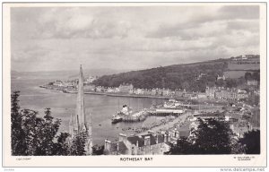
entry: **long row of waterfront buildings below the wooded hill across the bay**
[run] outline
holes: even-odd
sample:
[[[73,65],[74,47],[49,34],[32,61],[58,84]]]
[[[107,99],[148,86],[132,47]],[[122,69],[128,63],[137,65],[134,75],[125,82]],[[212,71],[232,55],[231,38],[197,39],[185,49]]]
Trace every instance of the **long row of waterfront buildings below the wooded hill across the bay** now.
[[[256,85],[256,81],[247,81],[247,85]],[[76,81],[53,82],[57,87],[66,88],[67,90],[75,90],[77,87]],[[102,87],[95,86],[91,83],[84,82],[85,92],[107,92],[107,93],[123,93],[130,95],[144,95],[144,96],[163,96],[169,98],[187,98],[187,99],[247,99],[249,94],[245,90],[229,89],[223,87],[206,87],[205,92],[187,92],[186,90],[169,90],[169,89],[140,89],[134,88],[133,84],[123,83],[119,87]]]

